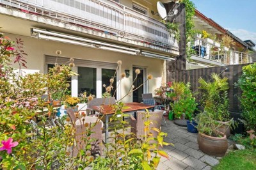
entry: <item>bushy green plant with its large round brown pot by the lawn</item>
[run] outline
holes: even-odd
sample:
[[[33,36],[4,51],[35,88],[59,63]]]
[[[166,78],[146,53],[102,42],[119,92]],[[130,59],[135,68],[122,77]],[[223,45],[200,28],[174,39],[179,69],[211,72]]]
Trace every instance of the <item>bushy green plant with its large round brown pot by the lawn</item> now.
[[[196,122],[199,149],[207,155],[223,157],[228,149],[228,141],[226,135],[218,131],[220,123],[214,120],[214,111],[200,112],[196,116]]]

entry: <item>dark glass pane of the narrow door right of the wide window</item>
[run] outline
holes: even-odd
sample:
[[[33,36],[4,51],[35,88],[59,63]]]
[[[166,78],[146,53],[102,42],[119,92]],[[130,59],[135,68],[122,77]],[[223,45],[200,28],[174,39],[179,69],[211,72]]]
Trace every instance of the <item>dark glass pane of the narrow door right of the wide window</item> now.
[[[134,89],[138,88],[141,84],[143,84],[144,81],[144,69],[143,68],[139,68],[140,69],[140,74],[138,74],[137,79],[134,81],[133,85],[134,85]],[[135,73],[136,68],[132,68],[132,79],[134,80],[136,77],[136,73]],[[142,94],[143,94],[143,87],[144,85],[142,85],[140,88],[136,89],[135,91],[132,92],[132,99],[133,102],[142,102]]]

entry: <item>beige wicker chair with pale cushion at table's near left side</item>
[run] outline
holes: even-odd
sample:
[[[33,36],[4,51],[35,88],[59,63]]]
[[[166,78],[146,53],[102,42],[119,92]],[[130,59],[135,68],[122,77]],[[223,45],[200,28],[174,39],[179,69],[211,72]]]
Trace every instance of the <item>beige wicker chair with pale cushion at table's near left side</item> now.
[[[72,148],[72,156],[76,157],[80,150],[83,150],[86,147],[86,143],[84,143],[84,139],[88,137],[86,134],[86,130],[88,130],[88,127],[92,127],[94,123],[97,124],[91,129],[92,134],[90,135],[91,139],[94,139],[90,144],[92,145],[92,148],[90,149],[90,152],[92,154],[103,154],[103,144],[102,144],[102,127],[103,123],[102,121],[99,121],[97,117],[91,117],[86,116],[84,120],[76,120],[75,128],[76,128],[76,144],[74,148]],[[85,124],[88,123],[88,127],[85,126]]]

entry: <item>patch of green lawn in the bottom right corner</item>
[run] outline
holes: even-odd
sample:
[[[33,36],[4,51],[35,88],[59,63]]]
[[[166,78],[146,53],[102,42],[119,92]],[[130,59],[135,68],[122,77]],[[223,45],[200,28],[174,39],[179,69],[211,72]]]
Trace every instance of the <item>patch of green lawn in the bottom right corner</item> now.
[[[228,153],[212,169],[256,169],[256,150],[237,150]]]

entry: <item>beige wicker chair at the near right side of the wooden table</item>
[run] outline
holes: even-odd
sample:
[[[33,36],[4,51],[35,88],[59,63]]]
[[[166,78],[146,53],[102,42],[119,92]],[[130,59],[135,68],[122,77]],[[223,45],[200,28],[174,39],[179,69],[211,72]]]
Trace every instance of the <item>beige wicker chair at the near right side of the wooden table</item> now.
[[[160,128],[161,127],[161,120],[163,117],[163,111],[154,111],[149,112],[149,120],[152,121],[153,124],[150,124],[151,128]],[[145,112],[137,112],[137,120],[131,115],[131,133],[135,134],[137,139],[141,139],[143,141],[142,135],[145,135],[144,132],[144,121],[146,121]],[[149,132],[152,133],[152,137],[157,137],[157,132],[155,130],[150,130]],[[150,141],[150,143],[154,143],[154,141]]]

